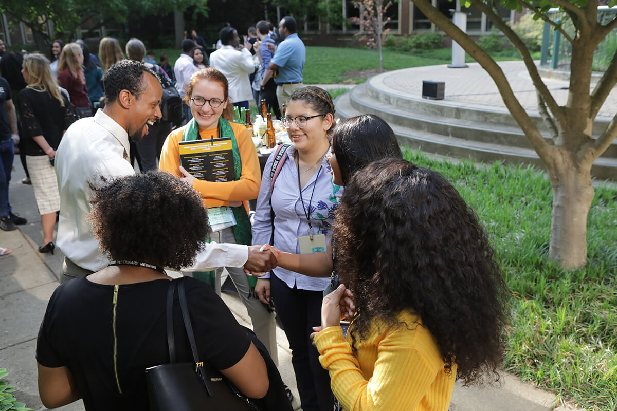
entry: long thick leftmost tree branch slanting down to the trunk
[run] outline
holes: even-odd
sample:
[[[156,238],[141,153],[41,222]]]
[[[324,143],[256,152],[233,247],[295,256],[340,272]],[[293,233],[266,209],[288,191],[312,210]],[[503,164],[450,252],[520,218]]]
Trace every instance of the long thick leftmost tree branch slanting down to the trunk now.
[[[470,36],[466,33],[463,33],[460,28],[458,28],[452,20],[445,17],[436,7],[434,7],[429,0],[413,0],[415,5],[420,9],[423,14],[429,18],[432,22],[434,22],[441,30],[443,30],[447,35],[449,35],[453,41],[456,41],[460,44],[466,52],[468,52],[471,57],[473,57],[480,65],[487,71],[487,73],[491,76],[493,81],[495,81],[495,85],[497,89],[499,89],[499,93],[502,96],[503,102],[505,103],[508,110],[510,110],[511,115],[514,117],[518,125],[521,127],[525,136],[531,142],[531,145],[536,150],[536,153],[539,157],[544,161],[545,164],[551,164],[551,156],[553,147],[551,147],[540,131],[537,129],[536,124],[533,123],[529,115],[525,112],[524,108],[521,106],[518,99],[512,88],[510,87],[510,83],[508,83],[508,79],[503,74],[503,70],[495,60],[489,56],[486,51],[482,50],[478,44],[476,44]],[[486,7],[484,7],[486,9]],[[502,22],[503,23],[503,22]],[[516,35],[515,35],[516,36]],[[520,39],[519,39],[520,41]],[[522,42],[521,42],[522,43]],[[529,55],[529,53],[528,53]],[[535,66],[534,66],[535,68]],[[549,93],[550,95],[550,93]],[[551,96],[552,99],[552,96]],[[555,100],[552,100],[553,103]],[[557,106],[559,109],[559,106]],[[559,111],[559,110],[557,110]]]

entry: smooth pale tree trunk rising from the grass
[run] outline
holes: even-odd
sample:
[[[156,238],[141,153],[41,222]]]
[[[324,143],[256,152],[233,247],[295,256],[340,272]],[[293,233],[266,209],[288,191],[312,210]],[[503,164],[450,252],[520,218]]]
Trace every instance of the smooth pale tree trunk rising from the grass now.
[[[577,164],[570,156],[558,150],[554,169],[549,170],[553,187],[549,258],[569,270],[587,262],[587,214],[594,199],[591,163]]]

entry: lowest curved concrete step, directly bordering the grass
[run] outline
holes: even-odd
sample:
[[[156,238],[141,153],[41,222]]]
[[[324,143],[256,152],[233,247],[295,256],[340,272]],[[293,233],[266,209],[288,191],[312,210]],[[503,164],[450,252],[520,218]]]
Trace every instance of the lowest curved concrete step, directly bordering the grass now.
[[[357,86],[354,90],[358,89]],[[360,111],[354,107],[350,92],[342,94],[335,100],[337,116],[340,118],[350,118],[360,114],[370,114],[367,111]],[[376,115],[382,116],[384,113]],[[387,114],[387,113],[386,113]],[[541,169],[545,169],[544,164],[533,149],[516,147],[505,144],[494,144],[479,140],[466,140],[452,137],[426,130],[417,130],[402,126],[390,121],[386,116],[397,139],[403,145],[412,149],[421,149],[427,153],[435,153],[447,157],[471,158],[474,161],[505,161],[513,165],[521,163],[531,164]],[[617,180],[617,159],[598,158],[592,167],[592,174],[599,179]]]

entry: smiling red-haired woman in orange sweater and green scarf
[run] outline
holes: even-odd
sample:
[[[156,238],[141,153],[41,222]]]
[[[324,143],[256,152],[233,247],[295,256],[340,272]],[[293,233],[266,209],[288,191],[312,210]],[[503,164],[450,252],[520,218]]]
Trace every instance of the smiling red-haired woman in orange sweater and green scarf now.
[[[185,126],[173,130],[163,144],[159,169],[172,173],[197,192],[201,193],[205,207],[212,217],[233,217],[236,224],[210,234],[217,243],[251,245],[251,222],[248,200],[257,197],[261,182],[259,159],[253,140],[243,124],[233,123],[233,105],[229,102],[229,85],[225,76],[214,68],[204,68],[191,76],[184,102],[191,108],[193,119]],[[180,165],[180,142],[231,137],[233,154],[233,180],[213,182],[196,179]],[[216,230],[214,227],[213,230]],[[276,323],[274,316],[255,295],[254,277],[248,277],[238,267],[226,267],[239,295],[246,306],[253,330],[278,365],[276,351]],[[220,295],[220,278],[223,269],[216,272],[193,272],[193,277],[209,282]],[[250,282],[249,282],[250,280]]]

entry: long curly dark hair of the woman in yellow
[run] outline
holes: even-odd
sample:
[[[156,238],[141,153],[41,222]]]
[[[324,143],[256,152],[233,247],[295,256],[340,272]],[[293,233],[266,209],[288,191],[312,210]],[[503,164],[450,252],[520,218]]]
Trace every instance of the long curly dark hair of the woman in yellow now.
[[[476,214],[441,174],[397,158],[371,163],[346,185],[333,235],[357,307],[354,351],[372,325],[423,326],[446,372],[456,365],[465,385],[484,373],[499,380],[507,287]],[[421,325],[399,323],[404,310]]]

